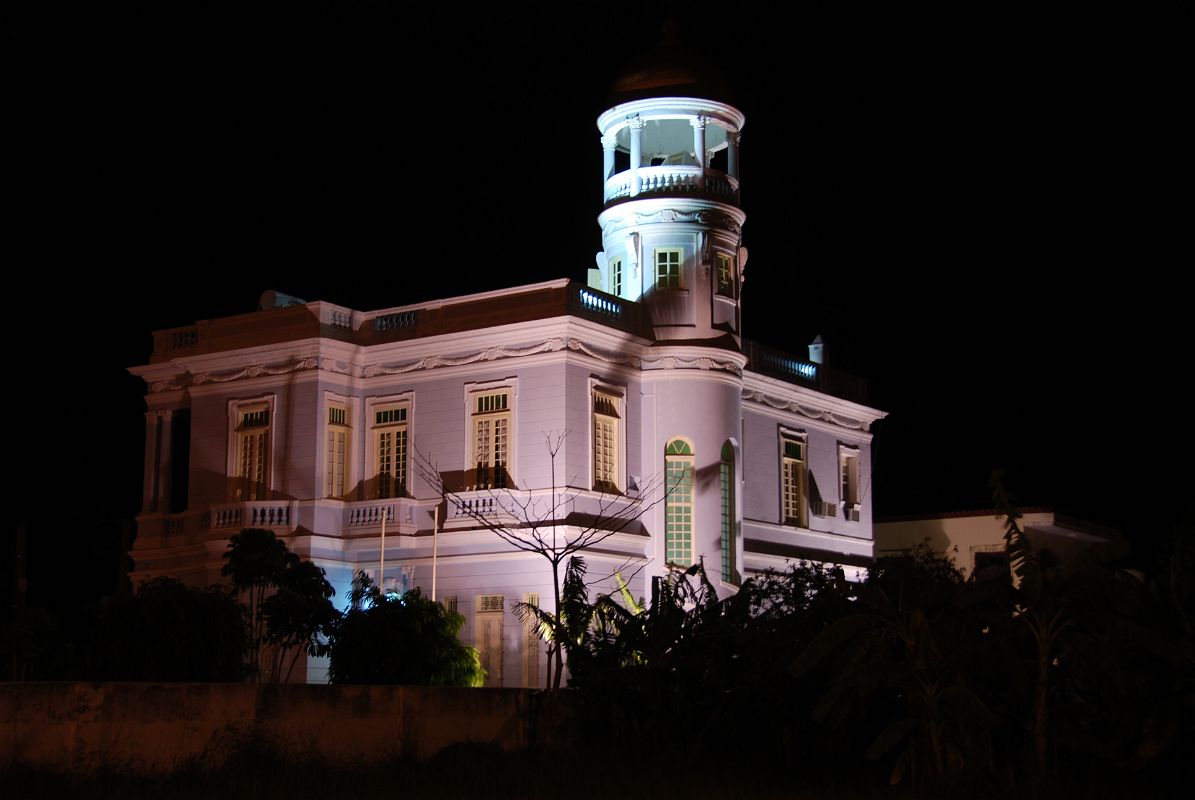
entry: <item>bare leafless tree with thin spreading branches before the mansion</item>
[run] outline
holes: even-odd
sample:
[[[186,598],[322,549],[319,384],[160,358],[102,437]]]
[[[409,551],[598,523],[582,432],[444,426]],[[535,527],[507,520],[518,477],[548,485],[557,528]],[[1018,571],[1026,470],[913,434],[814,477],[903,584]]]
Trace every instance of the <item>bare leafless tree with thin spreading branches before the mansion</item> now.
[[[541,489],[510,489],[494,486],[468,486],[462,475],[453,486],[430,453],[415,448],[416,468],[448,505],[451,513],[464,515],[478,526],[523,552],[544,557],[552,570],[554,605],[551,612],[537,610],[540,630],[547,640],[547,686],[558,689],[564,674],[564,612],[560,587],[564,566],[580,551],[631,527],[636,520],[664,501],[663,477],[652,477],[629,488],[626,494],[606,488],[593,491],[575,486],[576,481],[557,480],[557,457],[569,432],[544,434],[551,465],[551,482]],[[478,471],[479,474],[482,470]],[[582,499],[583,502],[576,501]],[[577,506],[581,508],[577,508]]]

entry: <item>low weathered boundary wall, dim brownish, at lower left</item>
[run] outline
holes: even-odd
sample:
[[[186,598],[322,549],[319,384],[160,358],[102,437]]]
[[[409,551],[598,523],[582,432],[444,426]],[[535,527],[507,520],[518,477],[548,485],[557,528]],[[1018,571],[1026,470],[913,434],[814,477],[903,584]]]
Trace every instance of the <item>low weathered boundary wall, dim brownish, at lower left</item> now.
[[[288,758],[424,759],[460,743],[559,741],[560,692],[448,686],[0,684],[0,770],[217,768],[253,745]],[[549,703],[551,701],[551,703]]]

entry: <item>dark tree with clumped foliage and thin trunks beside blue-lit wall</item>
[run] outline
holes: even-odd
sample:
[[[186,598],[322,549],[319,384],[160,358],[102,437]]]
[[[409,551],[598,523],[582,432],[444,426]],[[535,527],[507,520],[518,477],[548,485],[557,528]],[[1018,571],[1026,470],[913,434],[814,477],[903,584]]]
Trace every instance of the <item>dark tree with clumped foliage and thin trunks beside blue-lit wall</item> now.
[[[323,568],[302,561],[272,531],[261,527],[231,537],[223,557],[220,574],[249,601],[249,671],[253,680],[281,680],[288,651],[294,653],[286,677],[301,653],[323,653],[319,635],[336,615],[329,599],[335,591]]]

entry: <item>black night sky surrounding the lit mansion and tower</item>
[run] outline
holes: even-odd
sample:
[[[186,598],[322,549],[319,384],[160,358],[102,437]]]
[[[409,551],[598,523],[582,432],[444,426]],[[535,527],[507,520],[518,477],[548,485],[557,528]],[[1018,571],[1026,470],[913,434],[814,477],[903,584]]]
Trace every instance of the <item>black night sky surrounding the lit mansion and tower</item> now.
[[[747,116],[744,332],[798,355],[821,334],[870,380],[876,513],[989,507],[1003,466],[1024,505],[1165,525],[1191,338],[1177,20],[739,5],[681,30]],[[269,288],[375,309],[583,281],[595,118],[660,16],[552,8],[11,38],[18,521],[137,511],[124,370],[155,328]]]

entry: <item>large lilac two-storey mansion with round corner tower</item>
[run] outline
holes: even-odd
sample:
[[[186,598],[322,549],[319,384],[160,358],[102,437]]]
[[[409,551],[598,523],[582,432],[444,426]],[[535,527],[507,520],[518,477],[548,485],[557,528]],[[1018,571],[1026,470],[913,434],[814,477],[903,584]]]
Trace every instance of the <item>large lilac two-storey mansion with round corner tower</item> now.
[[[586,282],[375,311],[268,293],[256,313],[157,331],[133,370],[148,386],[135,580],[216,581],[228,536],[269,527],[343,601],[355,570],[378,574],[385,521],[385,584],[434,582],[490,684],[541,685],[544,646],[513,605],[551,606],[547,562],[441,503],[417,452],[464,503],[568,486],[558,536],[602,503],[655,501],[582,554],[637,597],[698,560],[725,593],[795,558],[865,568],[884,414],[820,342],[805,359],[741,338],[744,118],[699,85],[639,73],[598,118],[602,249]],[[545,432],[568,432],[554,481]],[[312,661],[306,679],[324,677]]]

